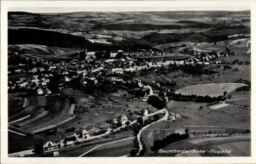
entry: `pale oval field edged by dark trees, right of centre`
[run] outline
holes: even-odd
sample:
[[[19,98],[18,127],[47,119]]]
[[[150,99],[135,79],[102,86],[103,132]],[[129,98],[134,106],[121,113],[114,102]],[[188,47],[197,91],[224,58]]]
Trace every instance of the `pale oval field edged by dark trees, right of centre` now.
[[[218,97],[223,95],[224,91],[231,92],[236,88],[246,86],[243,83],[207,83],[187,86],[177,90],[175,93],[181,93],[182,95],[200,95],[200,96],[212,96]]]

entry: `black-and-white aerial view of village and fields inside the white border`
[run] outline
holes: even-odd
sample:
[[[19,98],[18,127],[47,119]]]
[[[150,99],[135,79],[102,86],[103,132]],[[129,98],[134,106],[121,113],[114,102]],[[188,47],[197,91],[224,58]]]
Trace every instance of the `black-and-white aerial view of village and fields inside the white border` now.
[[[248,10],[8,9],[8,157],[251,156]]]

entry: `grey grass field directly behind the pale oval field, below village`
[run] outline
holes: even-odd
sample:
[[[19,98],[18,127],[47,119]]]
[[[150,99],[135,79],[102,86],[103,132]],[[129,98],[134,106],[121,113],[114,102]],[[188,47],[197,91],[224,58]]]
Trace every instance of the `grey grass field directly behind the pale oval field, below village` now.
[[[232,60],[233,61],[233,60]],[[166,83],[166,79],[170,82],[175,82],[176,85],[172,86],[172,89],[178,90],[183,87],[196,84],[204,83],[233,83],[239,79],[244,79],[251,81],[251,68],[250,65],[232,65],[231,69],[221,69],[217,66],[209,66],[207,68],[212,68],[215,71],[218,71],[219,74],[214,76],[202,75],[202,76],[193,76],[183,73],[182,71],[177,72],[164,72],[162,74],[150,73],[144,76],[136,76],[136,78],[141,79],[146,83],[152,83],[152,81],[161,83]],[[238,68],[238,72],[232,71],[234,68]],[[224,91],[223,91],[224,92]],[[222,92],[222,93],[223,93]]]

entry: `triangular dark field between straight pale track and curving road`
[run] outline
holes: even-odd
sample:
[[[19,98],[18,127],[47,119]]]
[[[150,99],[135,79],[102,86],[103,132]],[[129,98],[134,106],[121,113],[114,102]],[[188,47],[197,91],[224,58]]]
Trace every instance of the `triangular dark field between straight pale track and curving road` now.
[[[118,157],[130,154],[133,149],[135,137],[123,138],[111,143],[98,145],[91,150],[81,154],[79,157]]]

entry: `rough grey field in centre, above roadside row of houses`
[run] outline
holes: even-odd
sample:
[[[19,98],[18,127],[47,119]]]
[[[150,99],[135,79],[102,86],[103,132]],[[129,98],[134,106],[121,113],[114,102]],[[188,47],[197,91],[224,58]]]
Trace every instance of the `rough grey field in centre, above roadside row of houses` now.
[[[154,112],[157,109],[146,102],[130,101],[130,95],[124,90],[117,90],[113,93],[103,93],[99,98],[85,96],[80,90],[66,88],[66,95],[74,96],[77,104],[74,114],[79,115],[80,124],[75,125],[76,129],[85,128],[89,125],[104,125],[107,120],[112,120],[115,116],[125,114],[129,119],[137,119],[134,112],[140,112],[147,108]],[[84,112],[82,112],[84,110]],[[131,113],[131,115],[130,115]]]

